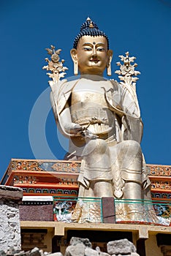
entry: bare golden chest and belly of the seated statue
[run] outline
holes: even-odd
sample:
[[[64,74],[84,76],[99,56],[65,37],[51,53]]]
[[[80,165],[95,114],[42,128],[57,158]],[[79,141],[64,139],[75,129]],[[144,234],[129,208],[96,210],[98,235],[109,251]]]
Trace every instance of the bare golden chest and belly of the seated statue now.
[[[94,134],[106,134],[115,129],[115,116],[107,106],[100,86],[75,86],[71,102],[72,122],[87,127]]]

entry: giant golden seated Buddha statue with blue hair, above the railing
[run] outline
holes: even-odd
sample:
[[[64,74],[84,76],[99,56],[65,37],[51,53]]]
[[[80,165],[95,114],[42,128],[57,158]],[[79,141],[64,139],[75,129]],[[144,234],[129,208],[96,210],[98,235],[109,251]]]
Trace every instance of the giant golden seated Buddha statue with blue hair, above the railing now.
[[[111,75],[109,39],[90,18],[71,50],[75,80],[53,82],[50,100],[69,138],[65,159],[80,160],[79,197],[147,198],[150,181],[140,148],[142,120],[134,90]],[[126,65],[126,61],[125,61]]]

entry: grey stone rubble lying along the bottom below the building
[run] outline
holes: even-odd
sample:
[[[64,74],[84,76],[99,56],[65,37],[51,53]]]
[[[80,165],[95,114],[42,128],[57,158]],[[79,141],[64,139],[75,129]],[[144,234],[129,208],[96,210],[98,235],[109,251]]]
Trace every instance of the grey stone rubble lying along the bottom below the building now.
[[[61,252],[43,252],[37,247],[28,252],[11,247],[6,252],[0,249],[0,256],[140,256],[136,251],[134,244],[127,239],[110,241],[107,243],[107,252],[101,252],[98,246],[92,249],[88,238],[72,237],[64,255]]]

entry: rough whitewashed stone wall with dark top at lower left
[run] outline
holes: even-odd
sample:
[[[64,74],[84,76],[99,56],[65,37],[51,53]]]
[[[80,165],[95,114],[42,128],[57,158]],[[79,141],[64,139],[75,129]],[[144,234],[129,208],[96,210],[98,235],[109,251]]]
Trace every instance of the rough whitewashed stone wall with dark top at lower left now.
[[[18,204],[23,190],[18,187],[0,186],[0,248],[20,249],[20,218]]]

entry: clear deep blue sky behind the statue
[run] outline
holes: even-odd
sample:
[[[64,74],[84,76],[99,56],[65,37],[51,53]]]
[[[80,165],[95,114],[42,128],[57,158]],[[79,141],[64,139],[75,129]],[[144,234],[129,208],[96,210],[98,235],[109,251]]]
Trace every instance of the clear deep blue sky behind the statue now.
[[[64,157],[66,142],[56,132],[49,109],[48,78],[42,70],[45,48],[53,44],[62,49],[61,58],[69,68],[66,77],[72,76],[69,50],[88,15],[110,39],[114,79],[118,55],[129,50],[137,57],[141,72],[137,94],[144,122],[142,151],[149,164],[171,164],[170,0],[1,0],[0,178],[11,158]],[[29,122],[35,103],[37,113]]]

